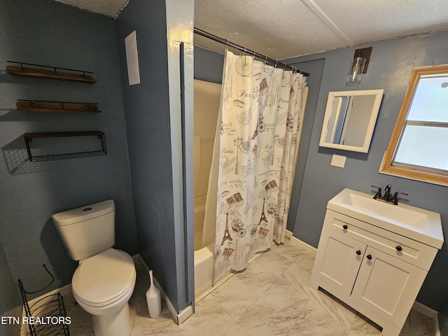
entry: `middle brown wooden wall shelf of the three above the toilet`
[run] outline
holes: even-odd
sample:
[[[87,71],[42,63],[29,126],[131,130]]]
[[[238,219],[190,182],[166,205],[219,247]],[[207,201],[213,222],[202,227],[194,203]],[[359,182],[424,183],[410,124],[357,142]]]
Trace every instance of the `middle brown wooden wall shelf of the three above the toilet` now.
[[[18,99],[18,111],[29,112],[88,112],[99,113],[97,103],[48,102],[45,100]]]

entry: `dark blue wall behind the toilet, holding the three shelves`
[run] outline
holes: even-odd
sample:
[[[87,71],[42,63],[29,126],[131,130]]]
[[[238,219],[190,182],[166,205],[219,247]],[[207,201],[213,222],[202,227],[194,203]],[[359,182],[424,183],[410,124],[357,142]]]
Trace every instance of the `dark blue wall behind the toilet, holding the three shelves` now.
[[[56,278],[48,291],[70,283],[77,266],[51,221],[56,212],[115,200],[116,248],[137,253],[116,23],[52,0],[2,0],[0,45],[0,248],[10,269],[0,293],[18,293],[11,279],[44,286],[43,264]],[[6,60],[93,71],[98,83],[10,76]],[[16,99],[94,102],[102,113],[20,112]],[[22,134],[88,130],[106,134],[107,155],[27,161]]]

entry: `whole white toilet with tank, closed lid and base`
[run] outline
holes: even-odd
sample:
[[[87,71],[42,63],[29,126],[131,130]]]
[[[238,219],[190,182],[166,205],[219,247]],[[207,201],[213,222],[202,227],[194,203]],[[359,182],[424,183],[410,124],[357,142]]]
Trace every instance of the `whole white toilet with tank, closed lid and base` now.
[[[95,336],[129,336],[134,324],[128,301],[137,272],[115,244],[115,203],[106,200],[52,216],[70,258],[79,261],[73,297],[92,314]]]

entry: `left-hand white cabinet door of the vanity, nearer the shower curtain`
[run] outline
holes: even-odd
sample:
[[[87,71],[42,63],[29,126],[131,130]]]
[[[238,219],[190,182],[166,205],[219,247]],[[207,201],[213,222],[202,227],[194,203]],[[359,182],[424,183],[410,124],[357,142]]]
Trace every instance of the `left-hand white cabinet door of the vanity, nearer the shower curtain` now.
[[[365,248],[359,241],[323,228],[313,274],[350,295]]]

